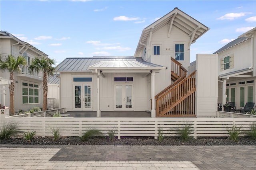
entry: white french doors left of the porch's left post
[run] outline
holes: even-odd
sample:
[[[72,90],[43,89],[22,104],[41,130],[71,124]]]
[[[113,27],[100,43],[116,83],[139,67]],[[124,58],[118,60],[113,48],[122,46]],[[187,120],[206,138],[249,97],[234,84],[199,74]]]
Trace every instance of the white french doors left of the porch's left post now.
[[[74,85],[73,89],[73,110],[92,110],[91,85]]]

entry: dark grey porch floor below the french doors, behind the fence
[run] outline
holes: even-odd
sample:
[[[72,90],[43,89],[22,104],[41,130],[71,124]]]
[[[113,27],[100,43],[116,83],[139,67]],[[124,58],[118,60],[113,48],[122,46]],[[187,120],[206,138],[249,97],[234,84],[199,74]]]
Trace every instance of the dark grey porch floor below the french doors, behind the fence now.
[[[67,117],[96,117],[96,111],[68,111]],[[150,111],[101,111],[101,117],[150,117]]]

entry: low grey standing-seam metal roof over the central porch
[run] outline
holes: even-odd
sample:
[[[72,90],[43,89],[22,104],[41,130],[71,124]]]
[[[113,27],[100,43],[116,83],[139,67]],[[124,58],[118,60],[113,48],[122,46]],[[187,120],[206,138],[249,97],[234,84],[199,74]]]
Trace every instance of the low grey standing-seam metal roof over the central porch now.
[[[92,72],[90,69],[150,69],[163,66],[143,61],[141,57],[88,57],[66,58],[56,69],[58,72]]]

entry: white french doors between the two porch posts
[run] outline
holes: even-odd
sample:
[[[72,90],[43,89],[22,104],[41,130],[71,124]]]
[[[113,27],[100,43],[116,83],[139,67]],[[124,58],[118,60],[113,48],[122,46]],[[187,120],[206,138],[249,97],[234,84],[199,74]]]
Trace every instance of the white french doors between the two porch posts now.
[[[133,85],[115,84],[114,110],[134,110]]]

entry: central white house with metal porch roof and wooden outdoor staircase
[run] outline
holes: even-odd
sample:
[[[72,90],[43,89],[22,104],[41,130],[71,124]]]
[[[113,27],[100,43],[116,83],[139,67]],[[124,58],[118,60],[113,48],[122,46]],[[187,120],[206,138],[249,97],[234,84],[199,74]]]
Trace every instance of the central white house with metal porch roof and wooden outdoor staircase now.
[[[66,58],[57,66],[60,107],[97,117],[147,110],[151,117],[216,115],[217,55],[197,55],[190,66],[190,45],[208,29],[174,8],[143,29],[133,57]],[[188,75],[188,68],[197,71]]]

